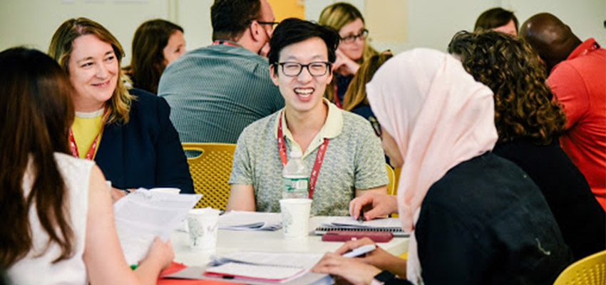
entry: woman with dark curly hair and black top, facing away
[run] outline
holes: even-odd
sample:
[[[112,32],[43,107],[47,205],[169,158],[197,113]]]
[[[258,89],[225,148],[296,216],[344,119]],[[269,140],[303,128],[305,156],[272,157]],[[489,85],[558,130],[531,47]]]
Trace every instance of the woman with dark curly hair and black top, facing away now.
[[[575,259],[606,248],[606,213],[558,144],[565,115],[551,100],[543,62],[520,38],[495,31],[457,33],[448,51],[495,93],[498,143],[545,196]]]

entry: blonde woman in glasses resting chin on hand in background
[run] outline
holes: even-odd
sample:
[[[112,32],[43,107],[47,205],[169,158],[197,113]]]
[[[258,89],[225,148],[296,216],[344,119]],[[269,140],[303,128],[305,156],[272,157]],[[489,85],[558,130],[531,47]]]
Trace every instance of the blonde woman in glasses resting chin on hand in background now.
[[[334,80],[324,94],[337,107],[343,108],[345,92],[360,64],[377,52],[368,43],[369,31],[364,17],[351,4],[339,2],[327,6],[322,10],[318,24],[331,26],[341,36],[337,61],[334,62]]]

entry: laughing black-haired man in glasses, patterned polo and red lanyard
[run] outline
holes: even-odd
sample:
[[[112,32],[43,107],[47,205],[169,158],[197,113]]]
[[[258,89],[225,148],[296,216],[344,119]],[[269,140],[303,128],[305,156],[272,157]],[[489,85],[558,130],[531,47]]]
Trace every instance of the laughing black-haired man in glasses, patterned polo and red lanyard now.
[[[292,150],[309,172],[312,215],[349,214],[349,201],[386,193],[379,138],[368,121],[323,98],[333,79],[339,34],[328,26],[286,19],[269,41],[269,70],[286,107],[249,125],[238,139],[227,209],[279,212],[282,167]]]

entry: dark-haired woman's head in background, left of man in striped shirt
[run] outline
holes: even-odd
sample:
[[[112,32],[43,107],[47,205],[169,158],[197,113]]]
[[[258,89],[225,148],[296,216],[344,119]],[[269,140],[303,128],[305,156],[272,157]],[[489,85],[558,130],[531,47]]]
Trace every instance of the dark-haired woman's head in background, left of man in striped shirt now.
[[[163,19],[146,21],[135,31],[133,59],[124,71],[134,88],[156,94],[164,68],[183,53],[183,28]]]

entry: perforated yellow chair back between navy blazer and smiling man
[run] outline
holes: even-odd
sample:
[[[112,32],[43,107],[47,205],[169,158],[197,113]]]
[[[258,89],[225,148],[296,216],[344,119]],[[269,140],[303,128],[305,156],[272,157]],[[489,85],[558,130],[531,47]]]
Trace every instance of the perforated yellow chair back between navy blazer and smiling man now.
[[[223,209],[230,198],[230,175],[236,145],[230,143],[183,142],[183,150],[202,152],[188,157],[194,190],[202,194],[197,208]]]

